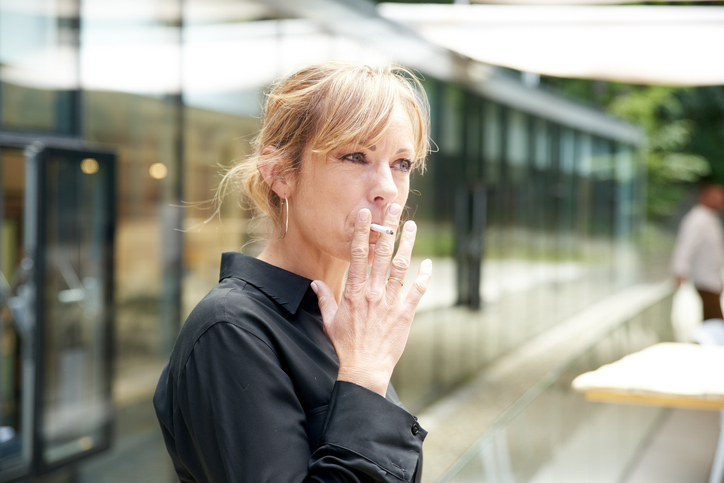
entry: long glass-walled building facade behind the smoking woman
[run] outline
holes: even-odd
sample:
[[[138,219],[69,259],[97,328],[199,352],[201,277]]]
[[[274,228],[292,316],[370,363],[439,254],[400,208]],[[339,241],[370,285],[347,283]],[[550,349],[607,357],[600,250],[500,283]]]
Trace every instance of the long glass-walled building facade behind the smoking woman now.
[[[441,337],[414,336],[413,356],[458,362],[424,387],[396,375],[408,404],[636,280],[640,130],[372,3],[1,0],[0,481],[148,474],[134,441],[163,455],[150,399],[175,336],[221,253],[257,253],[264,233],[237,199],[215,211],[220,173],[249,152],[265,87],[328,59],[424,78],[438,149],[407,209],[436,273],[420,310],[504,322],[463,352],[444,317]]]

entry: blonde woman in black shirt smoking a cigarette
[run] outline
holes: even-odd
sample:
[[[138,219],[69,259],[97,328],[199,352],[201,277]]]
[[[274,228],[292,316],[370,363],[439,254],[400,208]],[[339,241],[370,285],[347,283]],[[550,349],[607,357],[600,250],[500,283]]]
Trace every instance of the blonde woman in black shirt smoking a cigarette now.
[[[222,191],[240,186],[272,236],[256,259],[223,255],[154,396],[182,482],[420,481],[426,432],[389,381],[431,274],[426,260],[402,293],[426,102],[403,69],[337,63],[268,94]],[[394,258],[373,223],[401,232]]]

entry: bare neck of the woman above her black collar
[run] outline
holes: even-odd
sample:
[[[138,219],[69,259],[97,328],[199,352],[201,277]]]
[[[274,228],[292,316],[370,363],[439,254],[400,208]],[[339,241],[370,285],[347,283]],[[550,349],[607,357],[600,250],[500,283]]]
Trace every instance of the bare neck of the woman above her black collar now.
[[[311,280],[321,280],[334,293],[339,303],[349,262],[339,260],[319,250],[300,249],[293,232],[284,238],[272,238],[259,254],[259,260],[283,268]]]

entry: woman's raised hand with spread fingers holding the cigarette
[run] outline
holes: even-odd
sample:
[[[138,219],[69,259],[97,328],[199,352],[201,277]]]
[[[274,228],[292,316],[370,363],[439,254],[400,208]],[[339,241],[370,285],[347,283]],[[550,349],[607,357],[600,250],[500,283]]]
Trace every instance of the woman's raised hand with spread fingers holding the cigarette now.
[[[384,225],[397,228],[401,212],[400,205],[391,204]],[[391,268],[395,235],[380,234],[368,276],[370,211],[362,209],[357,215],[349,273],[339,306],[324,282],[312,282],[319,298],[324,330],[339,358],[337,379],[353,382],[382,396],[405,350],[412,317],[432,272],[432,262],[423,261],[413,286],[402,295],[402,283],[395,279],[405,278],[416,232],[415,222],[405,223]]]

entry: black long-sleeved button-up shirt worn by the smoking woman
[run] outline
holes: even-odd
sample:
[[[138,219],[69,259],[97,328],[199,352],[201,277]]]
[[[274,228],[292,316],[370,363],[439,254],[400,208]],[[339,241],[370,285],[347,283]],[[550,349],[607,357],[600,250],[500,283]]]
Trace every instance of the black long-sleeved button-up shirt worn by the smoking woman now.
[[[420,481],[416,418],[337,381],[311,281],[224,253],[153,404],[181,482]]]

